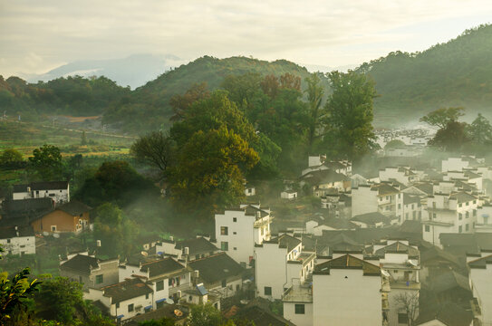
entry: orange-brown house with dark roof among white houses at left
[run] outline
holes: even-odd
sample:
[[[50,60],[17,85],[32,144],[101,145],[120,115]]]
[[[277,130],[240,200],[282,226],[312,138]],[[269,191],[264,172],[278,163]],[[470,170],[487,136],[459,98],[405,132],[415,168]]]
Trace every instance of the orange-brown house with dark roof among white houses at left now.
[[[81,233],[89,229],[92,210],[81,202],[72,200],[69,203],[53,207],[53,210],[35,217],[31,225],[36,233]]]

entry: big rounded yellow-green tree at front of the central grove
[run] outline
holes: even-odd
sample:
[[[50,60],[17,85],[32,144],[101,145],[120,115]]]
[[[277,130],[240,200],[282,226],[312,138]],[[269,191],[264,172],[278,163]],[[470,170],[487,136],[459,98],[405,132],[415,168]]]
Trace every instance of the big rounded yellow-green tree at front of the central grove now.
[[[200,207],[205,215],[236,205],[244,197],[244,173],[258,159],[233,130],[199,130],[180,149],[178,163],[169,173],[170,197],[183,209]]]

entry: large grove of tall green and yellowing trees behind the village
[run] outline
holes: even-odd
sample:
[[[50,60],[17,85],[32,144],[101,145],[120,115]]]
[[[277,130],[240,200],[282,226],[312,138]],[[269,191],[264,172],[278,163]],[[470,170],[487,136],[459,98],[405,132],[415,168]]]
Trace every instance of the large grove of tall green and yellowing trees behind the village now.
[[[328,96],[322,78],[330,81]],[[131,148],[160,169],[179,211],[209,218],[240,202],[245,177],[295,179],[310,153],[357,161],[375,148],[376,93],[363,74],[314,73],[302,81],[291,73],[246,73],[227,76],[221,88],[195,84],[172,97],[169,134],[151,132]]]

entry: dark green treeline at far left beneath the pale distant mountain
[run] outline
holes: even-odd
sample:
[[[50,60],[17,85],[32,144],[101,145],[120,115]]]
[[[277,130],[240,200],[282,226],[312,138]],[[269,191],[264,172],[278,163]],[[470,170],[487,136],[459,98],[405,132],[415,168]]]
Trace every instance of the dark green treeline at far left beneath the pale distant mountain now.
[[[102,114],[110,103],[130,94],[106,77],[58,78],[28,83],[18,77],[0,76],[0,110],[3,114],[38,119],[38,114],[92,116]]]

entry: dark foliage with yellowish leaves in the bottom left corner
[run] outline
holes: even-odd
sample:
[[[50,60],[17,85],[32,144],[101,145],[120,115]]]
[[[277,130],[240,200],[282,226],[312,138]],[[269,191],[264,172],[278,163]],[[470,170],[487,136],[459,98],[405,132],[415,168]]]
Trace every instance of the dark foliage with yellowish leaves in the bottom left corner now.
[[[0,246],[0,254],[4,249]],[[0,255],[0,259],[2,256]],[[0,273],[0,325],[7,324],[14,313],[22,310],[26,300],[34,296],[40,282],[36,279],[29,281],[29,268],[8,278],[8,273]]]

